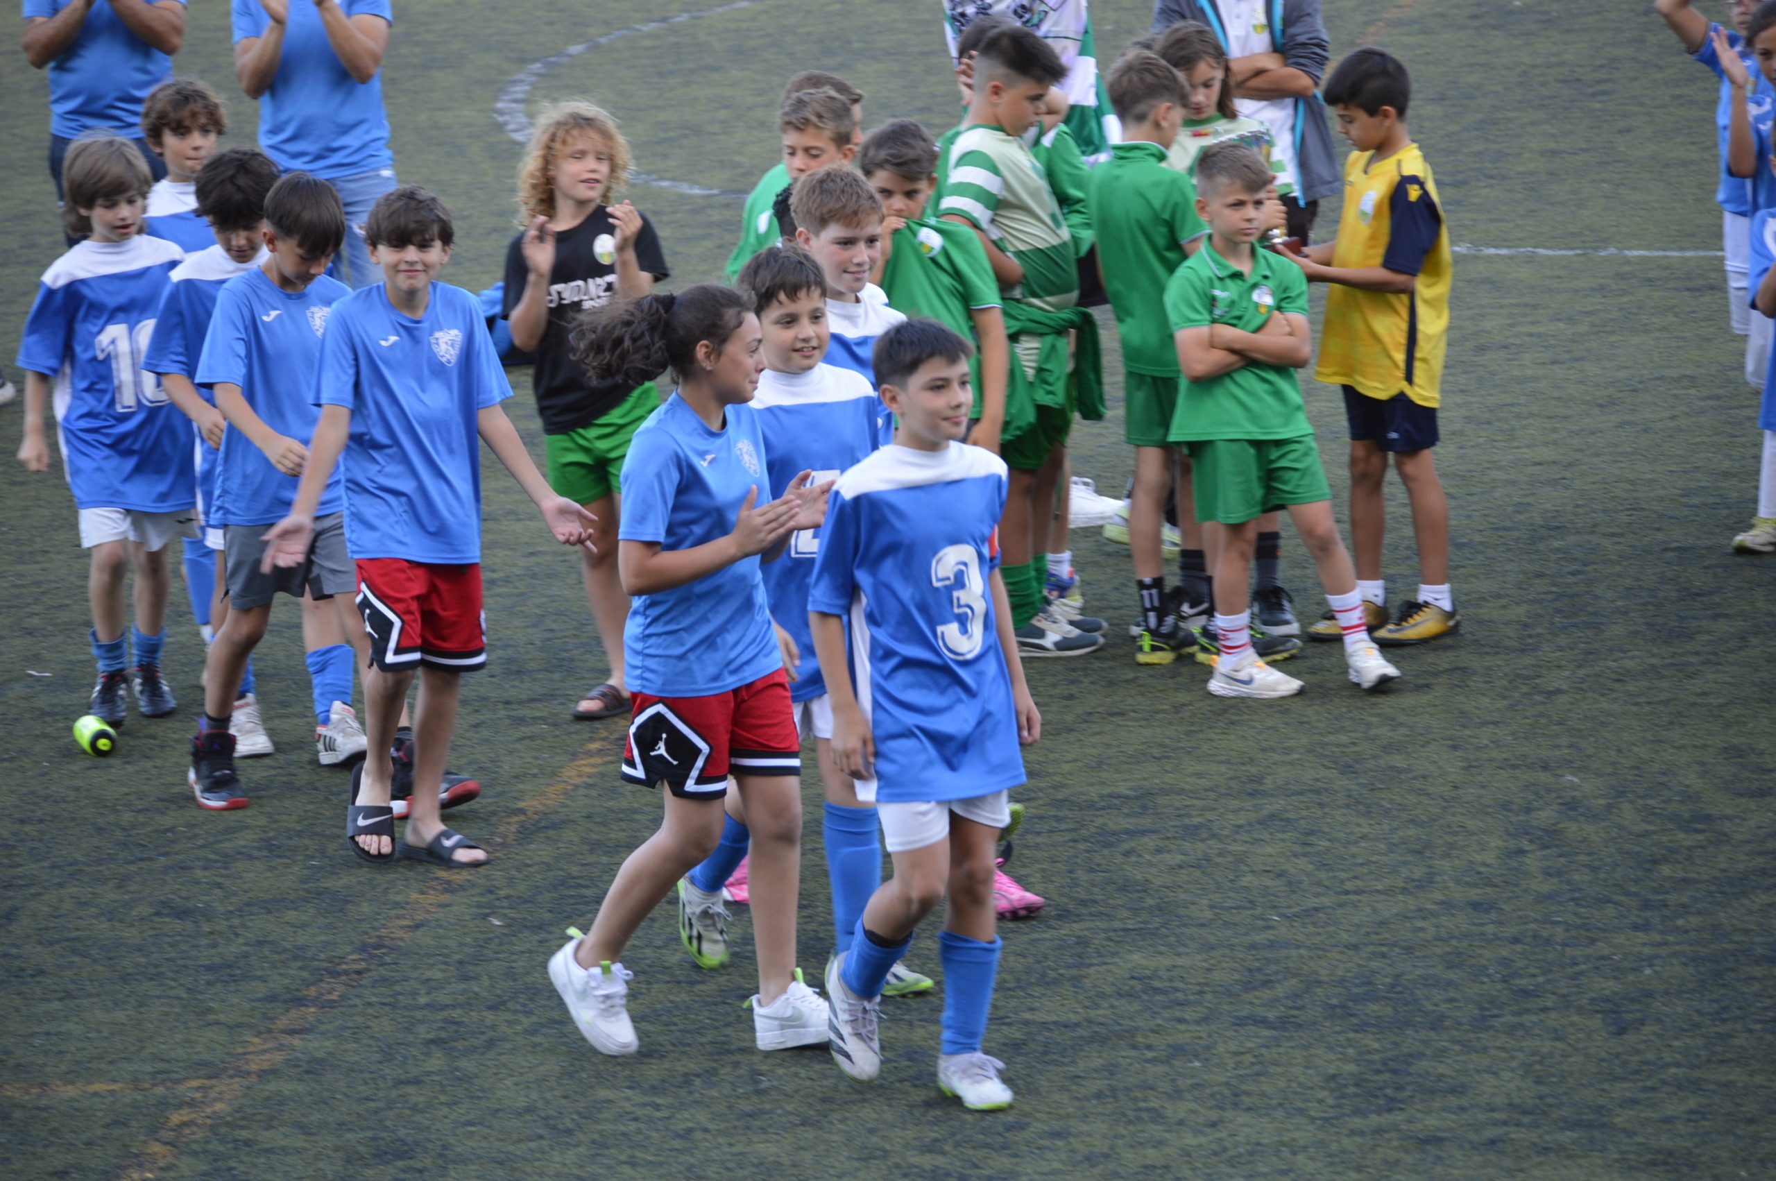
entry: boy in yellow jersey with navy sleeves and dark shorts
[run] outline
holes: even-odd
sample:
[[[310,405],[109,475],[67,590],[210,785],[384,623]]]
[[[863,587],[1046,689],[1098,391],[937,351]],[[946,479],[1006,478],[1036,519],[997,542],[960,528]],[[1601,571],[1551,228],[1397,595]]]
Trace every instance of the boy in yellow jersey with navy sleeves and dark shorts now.
[[[1357,50],[1327,80],[1327,103],[1353,151],[1344,163],[1337,240],[1296,254],[1330,282],[1314,378],[1344,389],[1350,419],[1350,538],[1366,623],[1380,645],[1415,645],[1462,627],[1449,593],[1449,501],[1431,460],[1449,339],[1449,227],[1424,153],[1407,131],[1412,80],[1399,59]],[[1419,593],[1387,622],[1382,483],[1387,458],[1412,501]],[[1336,639],[1330,616],[1309,629]]]

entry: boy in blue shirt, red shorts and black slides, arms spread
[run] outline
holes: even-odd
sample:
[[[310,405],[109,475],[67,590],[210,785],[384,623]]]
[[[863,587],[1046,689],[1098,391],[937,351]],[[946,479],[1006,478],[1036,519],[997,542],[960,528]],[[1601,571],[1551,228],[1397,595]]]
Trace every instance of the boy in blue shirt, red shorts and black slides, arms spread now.
[[[444,760],[462,673],[487,664],[476,439],[536,503],[558,542],[583,545],[591,517],[549,490],[499,408],[511,385],[474,295],[437,282],[456,236],[444,202],[423,188],[396,188],[377,201],[364,236],[384,282],[341,298],[325,318],[320,423],[305,453],[300,444],[277,448],[279,467],[300,471],[302,483],[289,515],[265,533],[259,568],[311,561],[323,524],[316,513],[343,464],[345,540],[369,632],[368,749],[377,751],[352,769],[346,842],[366,861],[485,865],[487,852],[439,819],[449,803]],[[416,671],[412,803],[396,849],[392,748]]]

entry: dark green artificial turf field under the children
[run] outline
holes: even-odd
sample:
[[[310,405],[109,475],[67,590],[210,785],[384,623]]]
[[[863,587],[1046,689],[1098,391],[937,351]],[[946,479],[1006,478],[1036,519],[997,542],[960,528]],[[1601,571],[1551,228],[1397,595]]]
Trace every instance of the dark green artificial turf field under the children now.
[[[519,144],[496,121],[538,59],[712,0],[400,5],[385,64],[403,181],[456,213],[444,277],[481,288],[511,234]],[[719,272],[774,155],[781,80],[868,92],[865,121],[954,121],[938,5],[753,0],[540,73],[622,119],[686,284]],[[1719,249],[1714,82],[1645,5],[1327,0],[1334,57],[1414,69],[1412,126],[1455,242]],[[1098,0],[1105,62],[1144,0]],[[181,73],[234,89],[226,5],[192,5]],[[9,50],[9,53],[12,53]],[[59,252],[43,76],[0,71],[0,357]],[[1320,236],[1336,227],[1325,208]],[[1044,741],[1014,876],[1050,899],[1007,925],[987,1050],[1018,1105],[932,1085],[941,998],[890,1002],[876,1087],[821,1051],[760,1055],[749,923],[700,971],[661,908],[632,948],[643,1050],[570,1028],[543,973],[659,820],[618,783],[622,730],[568,721],[602,655],[575,559],[487,456],[492,664],[451,764],[451,822],[494,865],[373,870],[343,847],[345,774],[314,765],[297,611],[261,645],[281,749],[252,806],[185,789],[201,645],[174,586],[167,721],[108,762],[69,725],[92,664],[85,563],[55,476],[0,467],[0,1174],[7,1177],[1202,1176],[1758,1177],[1776,1174],[1776,559],[1735,558],[1756,478],[1755,394],[1719,259],[1465,254],[1439,464],[1460,638],[1403,652],[1364,698],[1337,650],[1289,701],[1222,701],[1206,670],[1122,643],[1030,662]],[[1318,321],[1316,321],[1318,327]],[[1114,332],[1106,337],[1114,341]],[[7,366],[11,368],[11,366]],[[1130,471],[1112,414],[1074,469]],[[18,375],[14,375],[18,380]],[[524,371],[513,419],[540,458]],[[1337,504],[1343,414],[1305,384]],[[20,403],[0,408],[7,451]],[[1405,499],[1392,597],[1410,597]],[[1284,574],[1318,614],[1312,567]],[[1126,551],[1073,535],[1087,602],[1131,611]],[[174,568],[178,561],[174,559]],[[48,673],[48,675],[44,675]],[[819,785],[805,781],[801,963],[829,948]],[[938,970],[936,925],[909,955]]]

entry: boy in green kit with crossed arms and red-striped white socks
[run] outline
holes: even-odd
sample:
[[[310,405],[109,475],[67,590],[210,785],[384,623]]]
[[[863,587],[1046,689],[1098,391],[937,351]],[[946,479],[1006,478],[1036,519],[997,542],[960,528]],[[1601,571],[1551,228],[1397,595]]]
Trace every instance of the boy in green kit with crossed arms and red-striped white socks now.
[[[1247,577],[1259,515],[1289,510],[1314,558],[1344,638],[1350,678],[1380,689],[1399,677],[1364,625],[1357,570],[1332,520],[1332,494],[1293,369],[1312,359],[1307,277],[1291,259],[1259,250],[1270,169],[1241,144],[1215,144],[1197,160],[1197,217],[1209,242],[1165,284],[1185,387],[1169,437],[1190,448],[1197,520],[1220,524],[1215,634],[1220,655],[1208,689],[1224,698],[1284,698],[1302,682],[1252,652]],[[1238,611],[1234,611],[1238,607]]]

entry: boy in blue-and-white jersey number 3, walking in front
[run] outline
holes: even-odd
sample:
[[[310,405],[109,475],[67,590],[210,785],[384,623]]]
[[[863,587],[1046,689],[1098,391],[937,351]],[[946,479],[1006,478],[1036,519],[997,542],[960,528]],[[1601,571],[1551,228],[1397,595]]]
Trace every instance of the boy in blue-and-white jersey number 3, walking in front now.
[[[828,1044],[860,1082],[881,1073],[877,1003],[913,929],[948,897],[938,1085],[973,1110],[1011,1106],[1002,1064],[980,1051],[993,1005],[995,840],[1025,781],[1030,700],[998,574],[1005,462],[963,444],[968,357],[950,329],[911,320],[876,346],[893,446],[833,492],[808,593],[810,632],[831,675],[833,757],[876,803],[893,877],[826,968]],[[849,654],[847,629],[849,627]]]

